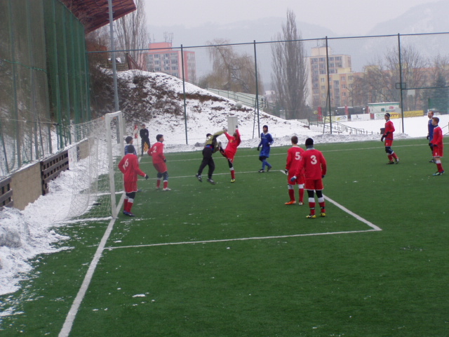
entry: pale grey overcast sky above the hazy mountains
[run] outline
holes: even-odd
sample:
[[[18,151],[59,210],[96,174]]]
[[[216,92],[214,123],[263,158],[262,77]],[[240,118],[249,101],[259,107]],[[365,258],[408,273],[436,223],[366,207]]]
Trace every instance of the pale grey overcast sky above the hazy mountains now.
[[[149,25],[196,27],[260,18],[286,18],[291,9],[297,21],[314,23],[336,34],[366,34],[377,23],[397,18],[413,6],[437,0],[145,0]]]

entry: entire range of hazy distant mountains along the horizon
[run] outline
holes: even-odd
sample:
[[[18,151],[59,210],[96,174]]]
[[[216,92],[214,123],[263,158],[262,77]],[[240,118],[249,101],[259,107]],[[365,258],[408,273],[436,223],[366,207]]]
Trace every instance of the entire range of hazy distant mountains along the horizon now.
[[[376,25],[367,36],[390,34],[422,34],[434,32],[449,32],[448,0],[440,0],[431,4],[418,5],[410,8],[403,15]],[[181,44],[185,47],[204,46],[213,39],[229,39],[232,44],[272,41],[281,32],[286,18],[263,18],[258,20],[238,21],[226,25],[208,22],[198,27],[187,28],[184,25],[154,26],[149,25],[152,41],[164,41],[164,33],[173,33],[173,46]],[[323,37],[339,37],[330,29],[312,25],[307,22],[297,22],[302,39],[321,39]],[[346,37],[350,36],[348,34]],[[360,36],[354,32],[353,36]]]

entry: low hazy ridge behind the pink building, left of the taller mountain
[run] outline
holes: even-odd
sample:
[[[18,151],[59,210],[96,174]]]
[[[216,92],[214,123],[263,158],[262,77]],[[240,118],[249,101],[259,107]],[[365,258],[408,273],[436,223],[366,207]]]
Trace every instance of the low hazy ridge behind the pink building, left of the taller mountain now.
[[[173,46],[204,46],[213,39],[229,39],[232,44],[272,41],[277,33],[281,32],[286,18],[263,18],[259,20],[232,22],[227,25],[206,23],[199,27],[186,28],[183,25],[156,27],[149,25],[152,41],[164,40],[164,33],[173,33]],[[322,37],[335,37],[330,29],[306,22],[297,22],[297,28],[302,39],[319,39]]]

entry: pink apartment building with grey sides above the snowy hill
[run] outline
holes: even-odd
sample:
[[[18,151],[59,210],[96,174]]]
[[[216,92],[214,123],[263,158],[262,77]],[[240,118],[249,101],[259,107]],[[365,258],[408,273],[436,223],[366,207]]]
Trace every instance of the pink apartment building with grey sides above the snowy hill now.
[[[184,53],[185,80],[196,83],[196,61],[194,51]],[[143,57],[143,70],[148,72],[164,72],[182,79],[182,53],[178,48],[172,48],[171,42],[156,42],[149,44],[149,51]]]

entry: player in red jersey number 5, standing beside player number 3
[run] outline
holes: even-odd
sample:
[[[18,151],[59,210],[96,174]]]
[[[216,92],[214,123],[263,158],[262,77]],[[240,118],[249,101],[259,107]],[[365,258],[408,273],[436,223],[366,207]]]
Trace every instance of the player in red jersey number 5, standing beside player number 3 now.
[[[287,186],[288,186],[288,195],[290,197],[290,201],[286,202],[286,205],[295,205],[295,185],[298,185],[299,189],[299,205],[302,206],[304,204],[304,169],[300,173],[300,176],[298,176],[297,180],[294,182],[291,182],[290,179],[295,176],[295,172],[297,171],[297,166],[300,164],[301,160],[301,154],[304,152],[304,150],[300,147],[300,145],[297,145],[297,136],[293,136],[291,138],[292,141],[292,147],[288,149],[287,151],[287,164],[286,164],[286,173],[287,173]]]

